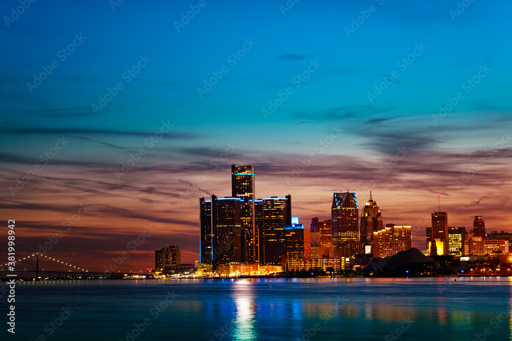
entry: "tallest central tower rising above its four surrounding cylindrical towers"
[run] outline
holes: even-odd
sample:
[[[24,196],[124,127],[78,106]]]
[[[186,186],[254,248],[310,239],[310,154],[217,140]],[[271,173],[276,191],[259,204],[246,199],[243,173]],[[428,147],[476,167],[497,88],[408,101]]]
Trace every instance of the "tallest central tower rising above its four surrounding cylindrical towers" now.
[[[257,261],[254,221],[254,167],[231,166],[231,196],[242,199],[242,262]]]

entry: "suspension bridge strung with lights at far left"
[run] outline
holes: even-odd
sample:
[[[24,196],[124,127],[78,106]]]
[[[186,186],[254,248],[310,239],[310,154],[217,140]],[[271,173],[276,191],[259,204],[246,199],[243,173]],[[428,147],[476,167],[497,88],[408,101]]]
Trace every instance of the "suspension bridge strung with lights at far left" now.
[[[39,253],[18,259],[15,266],[9,263],[0,266],[0,279],[14,278],[9,276],[16,274],[15,278],[45,279],[89,279],[109,277],[104,272],[89,272],[88,270]],[[52,268],[52,269],[50,269]]]

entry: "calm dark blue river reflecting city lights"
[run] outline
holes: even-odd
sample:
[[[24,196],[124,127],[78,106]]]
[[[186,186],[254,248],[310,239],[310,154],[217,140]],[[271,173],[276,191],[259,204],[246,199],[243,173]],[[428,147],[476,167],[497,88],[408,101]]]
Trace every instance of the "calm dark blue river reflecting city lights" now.
[[[0,339],[474,340],[477,334],[480,341],[512,340],[511,281],[32,282],[16,287],[16,337],[3,327]],[[60,324],[61,315],[67,320],[54,329],[49,323]]]

